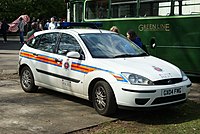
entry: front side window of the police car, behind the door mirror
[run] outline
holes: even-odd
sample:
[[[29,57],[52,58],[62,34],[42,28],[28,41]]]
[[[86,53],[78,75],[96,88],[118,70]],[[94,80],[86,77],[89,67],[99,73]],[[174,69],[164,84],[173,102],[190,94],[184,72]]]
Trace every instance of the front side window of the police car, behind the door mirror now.
[[[81,47],[78,41],[69,34],[62,34],[58,47],[58,54],[66,54],[70,51],[81,52]]]

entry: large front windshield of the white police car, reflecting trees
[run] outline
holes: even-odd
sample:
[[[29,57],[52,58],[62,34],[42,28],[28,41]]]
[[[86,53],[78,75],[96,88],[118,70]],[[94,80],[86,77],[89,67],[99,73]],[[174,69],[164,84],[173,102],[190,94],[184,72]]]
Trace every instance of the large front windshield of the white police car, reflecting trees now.
[[[124,58],[147,56],[140,47],[114,33],[80,34],[93,58]]]

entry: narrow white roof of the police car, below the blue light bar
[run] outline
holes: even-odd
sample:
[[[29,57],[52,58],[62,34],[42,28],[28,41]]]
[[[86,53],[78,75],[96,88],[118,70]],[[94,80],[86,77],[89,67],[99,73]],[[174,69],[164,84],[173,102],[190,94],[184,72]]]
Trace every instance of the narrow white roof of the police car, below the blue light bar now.
[[[52,33],[52,32],[59,32],[59,33],[75,33],[75,34],[84,34],[84,33],[113,33],[108,30],[102,30],[102,29],[91,29],[91,28],[76,28],[76,29],[52,29],[52,30],[44,30],[35,32],[34,35],[40,35],[44,33]]]

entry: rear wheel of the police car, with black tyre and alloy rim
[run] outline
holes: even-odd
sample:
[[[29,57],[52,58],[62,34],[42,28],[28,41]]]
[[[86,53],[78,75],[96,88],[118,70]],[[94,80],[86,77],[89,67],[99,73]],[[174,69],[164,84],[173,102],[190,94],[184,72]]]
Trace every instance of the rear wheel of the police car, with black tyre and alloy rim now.
[[[27,66],[23,67],[20,72],[20,84],[22,89],[28,93],[36,92],[38,89],[38,87],[35,86],[31,69]]]

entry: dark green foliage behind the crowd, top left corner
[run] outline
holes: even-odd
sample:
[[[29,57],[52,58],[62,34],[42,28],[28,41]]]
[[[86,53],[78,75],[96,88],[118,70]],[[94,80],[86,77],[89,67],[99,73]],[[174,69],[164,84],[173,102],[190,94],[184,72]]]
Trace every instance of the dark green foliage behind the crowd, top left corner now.
[[[0,20],[6,18],[8,22],[22,14],[40,19],[49,19],[52,16],[64,18],[66,4],[64,0],[1,0],[0,11]]]

